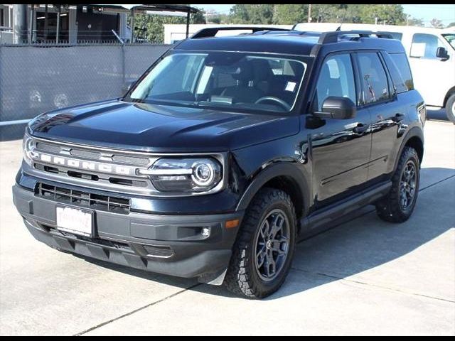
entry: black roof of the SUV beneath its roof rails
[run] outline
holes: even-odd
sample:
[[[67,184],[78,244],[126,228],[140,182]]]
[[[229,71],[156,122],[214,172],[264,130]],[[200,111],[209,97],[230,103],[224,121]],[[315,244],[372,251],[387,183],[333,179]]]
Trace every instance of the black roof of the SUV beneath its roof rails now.
[[[346,34],[345,32],[344,34]],[[350,33],[350,32],[349,32]],[[197,35],[198,33],[196,33]],[[355,36],[355,32],[352,32]],[[196,36],[195,35],[195,36]],[[312,55],[319,42],[321,32],[304,31],[259,31],[237,36],[209,36],[189,38],[178,43],[175,50],[218,50],[252,53],[277,53],[282,55]],[[399,40],[386,38],[340,39],[337,42],[324,43],[326,50],[380,49],[392,53],[405,52]],[[327,45],[327,46],[326,46]],[[328,46],[330,45],[330,47]]]

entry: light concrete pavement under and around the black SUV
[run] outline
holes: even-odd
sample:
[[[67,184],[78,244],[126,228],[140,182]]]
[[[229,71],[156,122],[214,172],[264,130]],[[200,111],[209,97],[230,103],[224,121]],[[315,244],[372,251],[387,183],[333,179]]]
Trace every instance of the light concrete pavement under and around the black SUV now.
[[[455,335],[455,126],[427,121],[405,224],[365,207],[301,242],[263,301],[36,242],[11,202],[20,141],[0,144],[0,335]]]

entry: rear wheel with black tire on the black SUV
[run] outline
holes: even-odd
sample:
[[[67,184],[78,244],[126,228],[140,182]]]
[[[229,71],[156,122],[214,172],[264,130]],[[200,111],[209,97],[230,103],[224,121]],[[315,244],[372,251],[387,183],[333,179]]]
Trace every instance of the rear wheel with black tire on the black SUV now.
[[[410,175],[414,169],[414,175]],[[378,216],[386,222],[405,222],[414,211],[419,195],[420,163],[417,151],[406,146],[392,177],[390,192],[376,203]],[[411,178],[414,178],[412,180]],[[409,181],[407,181],[409,179]],[[412,194],[412,197],[411,197]]]

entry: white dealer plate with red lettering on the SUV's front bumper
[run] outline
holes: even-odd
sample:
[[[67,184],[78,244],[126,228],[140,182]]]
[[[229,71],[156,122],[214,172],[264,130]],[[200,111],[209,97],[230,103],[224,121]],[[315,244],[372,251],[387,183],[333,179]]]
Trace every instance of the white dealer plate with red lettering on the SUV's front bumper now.
[[[93,215],[71,207],[57,207],[57,229],[92,237]]]

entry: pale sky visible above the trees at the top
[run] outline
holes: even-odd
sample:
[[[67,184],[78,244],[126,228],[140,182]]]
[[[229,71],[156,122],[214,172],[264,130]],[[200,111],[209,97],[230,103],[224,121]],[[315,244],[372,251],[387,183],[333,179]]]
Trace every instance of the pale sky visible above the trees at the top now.
[[[193,5],[196,7],[203,7],[204,9],[214,9],[215,11],[222,13],[229,13],[229,10],[233,4],[202,4],[202,5]],[[444,25],[455,22],[455,5],[451,4],[405,4],[402,5],[405,13],[410,14],[414,18],[422,18],[424,24],[429,26],[429,21],[432,18],[438,18]]]

